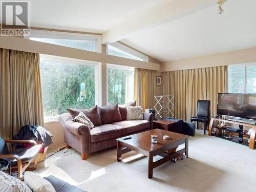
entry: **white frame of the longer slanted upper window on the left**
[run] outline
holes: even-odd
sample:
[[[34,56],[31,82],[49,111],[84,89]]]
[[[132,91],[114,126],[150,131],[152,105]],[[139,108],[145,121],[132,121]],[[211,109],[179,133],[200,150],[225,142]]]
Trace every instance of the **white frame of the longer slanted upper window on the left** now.
[[[30,37],[69,39],[69,40],[94,40],[96,42],[95,52],[101,53],[101,35],[31,29],[30,36],[24,36],[24,38],[29,39]],[[66,47],[66,46],[63,46],[63,47]],[[84,50],[84,51],[87,51],[87,50]]]

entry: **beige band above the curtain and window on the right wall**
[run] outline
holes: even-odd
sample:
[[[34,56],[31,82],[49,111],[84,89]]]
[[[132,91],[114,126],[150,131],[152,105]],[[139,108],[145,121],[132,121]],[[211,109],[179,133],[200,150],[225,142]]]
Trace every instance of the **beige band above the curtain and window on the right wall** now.
[[[177,71],[256,62],[256,48],[163,62],[161,71]]]

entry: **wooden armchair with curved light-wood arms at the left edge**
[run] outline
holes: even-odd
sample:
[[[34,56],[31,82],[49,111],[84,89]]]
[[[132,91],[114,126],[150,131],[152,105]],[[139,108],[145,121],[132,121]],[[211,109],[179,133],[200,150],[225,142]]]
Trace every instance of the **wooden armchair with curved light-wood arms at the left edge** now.
[[[31,143],[33,146],[14,152],[9,152],[6,143]],[[33,140],[3,140],[0,137],[0,159],[9,161],[12,168],[17,168],[18,177],[22,178],[23,172],[25,172],[33,160],[35,160],[34,166],[31,168],[31,170],[36,168],[37,155],[41,150],[41,147],[41,144],[37,144]]]

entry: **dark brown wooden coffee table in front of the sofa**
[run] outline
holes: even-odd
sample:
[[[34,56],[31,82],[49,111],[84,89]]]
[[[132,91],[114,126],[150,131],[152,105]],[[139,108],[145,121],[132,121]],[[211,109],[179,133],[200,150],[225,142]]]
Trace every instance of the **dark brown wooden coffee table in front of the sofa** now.
[[[151,143],[151,135],[158,135],[158,143]],[[163,136],[168,135],[170,139],[164,140]],[[125,138],[130,138],[125,140]],[[179,133],[169,132],[160,129],[154,129],[122,138],[117,140],[117,161],[121,161],[121,156],[124,153],[135,151],[148,157],[148,178],[153,177],[153,168],[172,160],[178,155],[185,154],[188,157],[188,136]],[[185,143],[185,147],[175,153],[168,154],[167,150],[177,147]],[[163,158],[153,162],[153,157],[160,155]]]

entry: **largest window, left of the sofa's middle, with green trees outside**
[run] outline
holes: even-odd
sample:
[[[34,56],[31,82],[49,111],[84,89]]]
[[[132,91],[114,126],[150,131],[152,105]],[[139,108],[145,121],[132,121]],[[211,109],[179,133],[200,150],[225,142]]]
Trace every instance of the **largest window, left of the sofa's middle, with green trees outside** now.
[[[97,104],[97,69],[97,64],[83,60],[40,55],[45,116]]]

